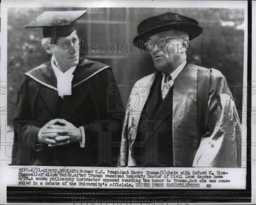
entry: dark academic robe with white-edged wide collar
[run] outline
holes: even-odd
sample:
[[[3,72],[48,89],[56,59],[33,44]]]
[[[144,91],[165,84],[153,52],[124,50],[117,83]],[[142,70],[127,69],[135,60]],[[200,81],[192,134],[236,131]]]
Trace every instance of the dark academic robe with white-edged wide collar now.
[[[58,96],[57,79],[50,61],[25,75],[21,86],[20,112],[11,123],[14,130],[12,164],[114,166],[113,157],[118,148],[100,143],[104,141],[100,138],[102,132],[110,136],[108,142],[120,142],[121,138],[119,127],[122,125],[118,118],[113,117],[115,95],[108,95],[108,87],[116,82],[111,68],[80,58],[73,72],[72,95],[64,96],[64,99]],[[65,119],[76,127],[83,126],[86,146],[81,148],[79,143],[71,143],[49,147],[45,143],[36,143],[40,128],[56,118]],[[99,123],[92,124],[94,121]],[[111,122],[116,129],[110,130]],[[111,150],[111,156],[106,156],[102,150]]]

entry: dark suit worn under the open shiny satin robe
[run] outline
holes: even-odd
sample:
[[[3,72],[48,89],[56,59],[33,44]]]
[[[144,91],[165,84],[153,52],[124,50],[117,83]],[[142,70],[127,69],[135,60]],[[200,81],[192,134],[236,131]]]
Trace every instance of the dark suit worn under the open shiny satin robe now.
[[[138,122],[136,139],[133,144],[133,157],[142,167],[173,167],[172,150],[172,101],[173,87],[164,100],[161,91],[162,73],[157,73],[142,116]],[[166,124],[163,131],[156,129],[159,123]],[[147,129],[141,129],[143,126]],[[154,141],[154,144],[151,144]],[[152,146],[147,146],[147,145]]]

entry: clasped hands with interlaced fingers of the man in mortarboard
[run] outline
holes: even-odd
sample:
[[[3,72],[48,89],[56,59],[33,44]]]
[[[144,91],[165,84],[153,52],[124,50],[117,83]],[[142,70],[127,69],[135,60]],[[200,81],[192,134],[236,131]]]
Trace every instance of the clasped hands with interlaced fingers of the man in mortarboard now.
[[[57,125],[56,123],[61,123]],[[80,128],[64,119],[54,119],[46,123],[38,132],[37,142],[46,143],[49,147],[80,142]]]

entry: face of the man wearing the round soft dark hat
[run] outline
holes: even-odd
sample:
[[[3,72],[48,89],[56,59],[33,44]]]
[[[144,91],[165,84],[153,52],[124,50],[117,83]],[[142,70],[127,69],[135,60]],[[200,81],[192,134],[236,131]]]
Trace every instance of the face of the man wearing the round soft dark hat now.
[[[157,45],[157,41],[160,45]],[[184,36],[179,35],[179,32],[163,31],[152,35],[145,44],[148,42],[151,44],[148,49],[151,50],[150,55],[155,67],[162,72],[172,72],[186,55],[183,47]],[[176,65],[177,63],[178,65]]]

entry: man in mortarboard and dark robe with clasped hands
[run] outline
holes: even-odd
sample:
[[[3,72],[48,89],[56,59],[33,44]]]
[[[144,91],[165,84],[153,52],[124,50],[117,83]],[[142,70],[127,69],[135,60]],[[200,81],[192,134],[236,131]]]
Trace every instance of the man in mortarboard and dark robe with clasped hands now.
[[[44,12],[27,26],[43,28],[42,46],[52,57],[25,73],[20,112],[13,122],[18,127],[14,136],[18,146],[13,147],[12,164],[114,165],[113,156],[100,160],[99,151],[109,153],[109,145],[100,144],[91,123],[101,121],[102,132],[113,123],[117,128],[112,130],[111,141],[121,136],[118,127],[122,126],[108,112],[116,109],[113,95],[108,98],[107,93],[115,79],[109,66],[79,58],[75,20],[86,12]],[[29,137],[24,139],[20,133]]]

